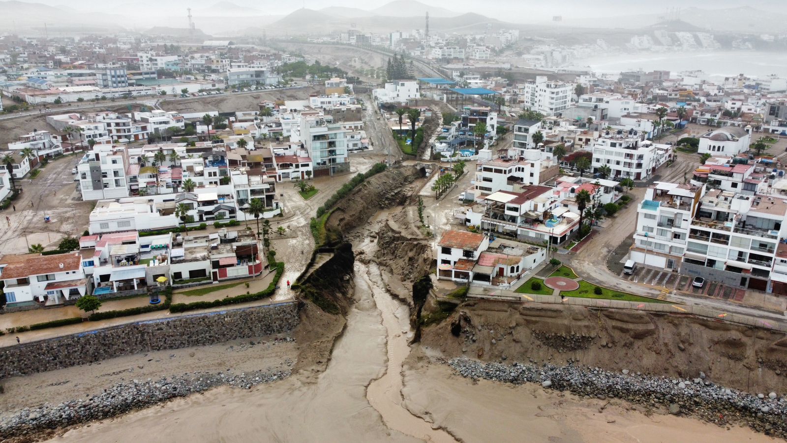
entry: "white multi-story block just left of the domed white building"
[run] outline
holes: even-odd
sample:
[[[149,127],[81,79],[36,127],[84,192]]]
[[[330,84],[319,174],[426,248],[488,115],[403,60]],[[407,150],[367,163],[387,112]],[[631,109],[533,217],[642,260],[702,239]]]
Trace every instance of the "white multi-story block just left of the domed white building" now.
[[[609,166],[609,177],[629,177],[634,180],[648,180],[656,169],[672,158],[671,145],[653,143],[645,136],[610,134],[600,137],[593,143],[593,162],[591,168],[597,173],[601,166]]]

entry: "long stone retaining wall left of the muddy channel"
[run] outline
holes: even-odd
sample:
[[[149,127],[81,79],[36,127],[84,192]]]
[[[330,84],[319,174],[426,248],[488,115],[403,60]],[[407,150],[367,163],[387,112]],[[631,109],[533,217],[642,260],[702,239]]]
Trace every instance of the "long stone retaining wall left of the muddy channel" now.
[[[295,302],[205,312],[97,329],[0,348],[0,378],[119,356],[284,333],[298,324]]]

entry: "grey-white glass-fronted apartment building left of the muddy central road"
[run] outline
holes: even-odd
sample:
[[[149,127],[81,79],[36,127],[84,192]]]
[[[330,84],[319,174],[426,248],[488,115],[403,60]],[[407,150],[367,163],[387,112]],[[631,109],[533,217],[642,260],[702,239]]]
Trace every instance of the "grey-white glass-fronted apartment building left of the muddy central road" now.
[[[296,139],[311,154],[315,177],[333,176],[349,171],[347,129],[324,118],[301,117]]]

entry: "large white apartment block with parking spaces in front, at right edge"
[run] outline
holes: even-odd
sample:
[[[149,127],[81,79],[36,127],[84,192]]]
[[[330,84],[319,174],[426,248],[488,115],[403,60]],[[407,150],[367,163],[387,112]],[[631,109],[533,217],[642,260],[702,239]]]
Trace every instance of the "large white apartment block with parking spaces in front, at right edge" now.
[[[637,208],[630,256],[726,285],[784,291],[787,274],[772,276],[785,270],[778,255],[785,216],[778,196],[657,182]]]

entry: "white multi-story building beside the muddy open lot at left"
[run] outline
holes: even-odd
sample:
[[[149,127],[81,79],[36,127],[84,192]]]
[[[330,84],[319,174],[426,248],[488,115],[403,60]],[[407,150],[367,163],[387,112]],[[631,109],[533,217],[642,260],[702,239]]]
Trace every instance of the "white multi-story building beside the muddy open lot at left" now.
[[[76,166],[79,190],[83,200],[116,199],[128,196],[126,168],[129,165],[125,147],[111,144],[94,145]]]

